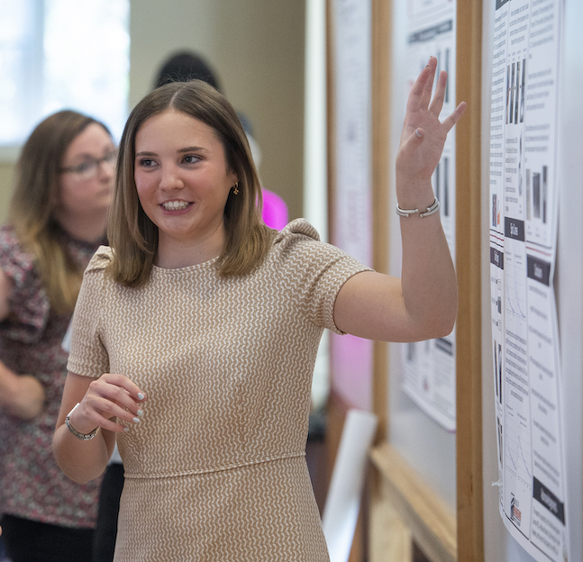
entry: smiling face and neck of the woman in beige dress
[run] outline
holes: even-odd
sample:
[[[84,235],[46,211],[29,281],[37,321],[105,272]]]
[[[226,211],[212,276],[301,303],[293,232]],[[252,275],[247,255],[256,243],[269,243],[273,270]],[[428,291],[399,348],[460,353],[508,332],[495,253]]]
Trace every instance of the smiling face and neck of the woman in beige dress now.
[[[224,206],[237,177],[214,129],[169,109],[141,125],[135,150],[135,184],[141,207],[159,229],[159,255],[177,244],[197,247],[206,258],[218,255]]]

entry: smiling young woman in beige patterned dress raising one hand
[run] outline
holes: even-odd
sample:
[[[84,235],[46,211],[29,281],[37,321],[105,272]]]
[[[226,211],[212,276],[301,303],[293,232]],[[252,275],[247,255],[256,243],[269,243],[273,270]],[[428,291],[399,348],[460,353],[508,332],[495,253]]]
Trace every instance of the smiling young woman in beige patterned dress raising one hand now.
[[[410,211],[402,280],[304,220],[281,232],[260,221],[245,133],[214,88],[170,84],[133,110],[111,248],[87,267],[53,440],[77,482],[103,472],[117,441],[116,562],[328,559],[304,458],[323,329],[424,340],[455,320],[431,176],[464,104],[439,121],[435,68],[412,90],[396,162]]]

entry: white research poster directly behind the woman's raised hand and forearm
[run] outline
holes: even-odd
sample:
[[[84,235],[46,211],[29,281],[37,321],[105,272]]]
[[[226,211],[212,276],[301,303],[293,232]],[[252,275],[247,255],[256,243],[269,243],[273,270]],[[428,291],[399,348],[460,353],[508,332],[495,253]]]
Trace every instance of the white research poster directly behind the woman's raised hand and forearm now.
[[[409,0],[405,97],[431,56],[437,73],[448,73],[442,119],[456,105],[456,3],[451,0]],[[433,174],[433,191],[440,201],[443,230],[455,256],[455,129],[448,135],[442,159]],[[424,412],[448,431],[456,429],[455,330],[439,340],[402,346],[403,389]]]

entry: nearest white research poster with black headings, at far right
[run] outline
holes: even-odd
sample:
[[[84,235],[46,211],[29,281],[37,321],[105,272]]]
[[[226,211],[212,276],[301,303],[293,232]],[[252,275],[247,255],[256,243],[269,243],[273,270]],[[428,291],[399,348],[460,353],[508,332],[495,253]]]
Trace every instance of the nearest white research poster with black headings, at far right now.
[[[568,560],[557,240],[560,0],[492,0],[490,295],[499,511],[539,562]]]

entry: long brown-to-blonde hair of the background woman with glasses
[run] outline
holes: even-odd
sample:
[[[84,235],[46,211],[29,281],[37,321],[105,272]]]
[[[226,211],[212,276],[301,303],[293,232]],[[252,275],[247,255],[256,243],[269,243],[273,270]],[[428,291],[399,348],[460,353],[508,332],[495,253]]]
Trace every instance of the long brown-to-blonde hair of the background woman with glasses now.
[[[58,313],[73,311],[83,277],[63,246],[56,218],[60,168],[71,142],[91,123],[111,136],[104,123],[82,113],[53,113],[32,131],[16,164],[8,222],[23,248],[34,255],[50,305]]]

